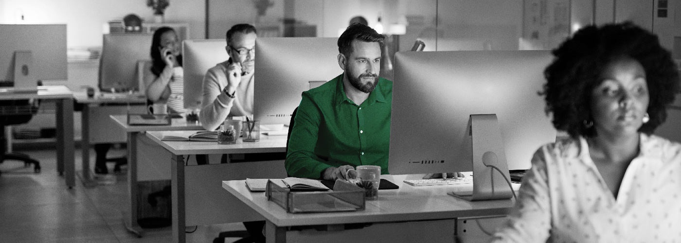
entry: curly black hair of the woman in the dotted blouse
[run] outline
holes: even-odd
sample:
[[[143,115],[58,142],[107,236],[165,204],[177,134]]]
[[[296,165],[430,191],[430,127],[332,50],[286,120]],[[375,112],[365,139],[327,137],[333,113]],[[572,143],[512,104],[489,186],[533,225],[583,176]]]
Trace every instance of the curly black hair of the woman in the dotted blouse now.
[[[638,61],[646,71],[650,120],[639,131],[650,134],[667,118],[666,106],[679,90],[679,74],[669,51],[650,31],[631,22],[588,26],[577,31],[552,51],[554,61],[544,70],[546,114],[571,137],[594,137],[591,92],[603,82],[609,63],[623,57]]]

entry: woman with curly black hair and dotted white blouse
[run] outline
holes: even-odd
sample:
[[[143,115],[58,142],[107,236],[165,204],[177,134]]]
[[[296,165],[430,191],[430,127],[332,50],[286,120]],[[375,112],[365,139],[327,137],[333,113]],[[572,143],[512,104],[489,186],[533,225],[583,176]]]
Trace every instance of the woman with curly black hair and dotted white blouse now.
[[[671,54],[631,22],[585,27],[552,52],[546,112],[565,140],[539,148],[494,242],[681,238],[681,144],[651,133],[679,90]]]

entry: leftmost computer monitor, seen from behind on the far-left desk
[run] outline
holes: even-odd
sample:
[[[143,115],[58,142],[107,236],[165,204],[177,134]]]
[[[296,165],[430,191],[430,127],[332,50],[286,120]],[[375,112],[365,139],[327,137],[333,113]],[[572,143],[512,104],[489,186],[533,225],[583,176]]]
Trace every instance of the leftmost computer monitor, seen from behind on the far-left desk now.
[[[27,53],[29,57],[18,52]],[[66,25],[0,25],[2,86],[37,86],[37,80],[66,80]],[[15,65],[31,80],[14,83]]]

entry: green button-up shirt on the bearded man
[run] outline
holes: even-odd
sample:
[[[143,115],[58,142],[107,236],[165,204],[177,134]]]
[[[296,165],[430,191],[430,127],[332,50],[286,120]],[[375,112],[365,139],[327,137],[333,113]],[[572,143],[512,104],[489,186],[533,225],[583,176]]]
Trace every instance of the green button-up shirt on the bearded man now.
[[[286,155],[289,176],[320,178],[328,167],[379,165],[387,172],[392,81],[379,83],[360,105],[343,90],[343,74],[302,93]]]

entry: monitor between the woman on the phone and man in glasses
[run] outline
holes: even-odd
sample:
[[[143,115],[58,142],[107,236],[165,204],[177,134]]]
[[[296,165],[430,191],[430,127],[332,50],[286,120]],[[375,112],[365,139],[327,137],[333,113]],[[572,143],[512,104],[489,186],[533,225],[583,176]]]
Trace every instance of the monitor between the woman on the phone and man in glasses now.
[[[200,109],[206,72],[229,59],[225,39],[188,39],[183,42],[185,68],[185,108]]]

